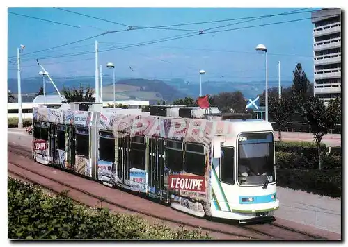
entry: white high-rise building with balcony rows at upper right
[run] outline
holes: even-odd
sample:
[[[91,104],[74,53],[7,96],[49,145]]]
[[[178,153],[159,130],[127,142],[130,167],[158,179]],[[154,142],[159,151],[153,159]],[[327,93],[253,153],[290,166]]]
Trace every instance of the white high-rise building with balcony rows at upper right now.
[[[314,94],[324,103],[341,96],[341,9],[312,13]]]

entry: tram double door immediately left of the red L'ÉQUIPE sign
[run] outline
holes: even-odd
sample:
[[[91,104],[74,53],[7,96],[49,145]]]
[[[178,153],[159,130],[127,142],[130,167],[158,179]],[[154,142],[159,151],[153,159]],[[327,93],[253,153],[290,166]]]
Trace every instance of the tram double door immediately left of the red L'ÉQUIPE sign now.
[[[163,139],[149,139],[148,157],[148,184],[150,186],[150,192],[162,196],[165,178]]]

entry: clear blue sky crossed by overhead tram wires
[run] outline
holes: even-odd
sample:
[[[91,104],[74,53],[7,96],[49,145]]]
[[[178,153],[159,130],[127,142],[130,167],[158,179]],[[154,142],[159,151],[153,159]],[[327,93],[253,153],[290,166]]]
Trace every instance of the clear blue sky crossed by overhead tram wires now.
[[[230,28],[239,30],[196,35],[171,40],[116,49],[99,53],[99,64],[104,74],[107,62],[116,65],[118,77],[141,77],[171,79],[183,78],[191,82],[199,80],[198,71],[205,69],[204,80],[229,80],[246,82],[264,80],[264,56],[255,51],[255,46],[265,44],[268,48],[269,80],[278,80],[278,61],[281,62],[282,80],[292,80],[292,70],[301,62],[308,78],[313,80],[313,24],[310,19],[300,22],[274,24],[245,28],[248,26],[284,22],[294,19],[310,18],[311,8],[65,8],[85,15],[92,15],[128,26],[164,26],[191,22],[209,22],[221,19],[258,17],[274,15],[292,10],[303,12],[293,15],[280,15],[262,18],[242,24],[246,19],[210,24],[175,26],[196,31],[216,26],[233,24],[209,31],[221,31]],[[35,64],[39,58],[42,65],[54,76],[94,76],[95,60],[93,53],[95,39],[78,42],[69,46],[48,49],[61,44],[74,42],[105,31],[122,31],[125,26],[104,22],[90,17],[75,15],[55,8],[8,8],[9,12],[29,15],[54,22],[79,26],[74,28],[38,19],[29,19],[8,14],[8,60],[15,64],[17,47],[26,47],[22,56],[22,78],[38,76],[40,67]],[[206,31],[206,32],[209,32]],[[127,44],[138,44],[175,35],[184,35],[189,31],[143,29],[110,33],[97,37],[100,51]],[[86,55],[71,56],[72,53],[90,52]],[[67,55],[59,58],[58,56]],[[56,58],[52,58],[55,57]],[[49,58],[51,57],[51,58]],[[129,69],[132,67],[134,71]],[[17,78],[16,65],[8,66],[8,78]]]

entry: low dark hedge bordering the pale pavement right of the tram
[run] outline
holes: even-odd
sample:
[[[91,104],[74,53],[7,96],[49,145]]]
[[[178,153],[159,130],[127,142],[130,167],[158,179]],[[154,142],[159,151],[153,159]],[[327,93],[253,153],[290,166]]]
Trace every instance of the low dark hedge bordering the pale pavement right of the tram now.
[[[313,194],[323,196],[342,196],[342,171],[329,169],[277,169],[277,184],[280,187],[301,189]]]

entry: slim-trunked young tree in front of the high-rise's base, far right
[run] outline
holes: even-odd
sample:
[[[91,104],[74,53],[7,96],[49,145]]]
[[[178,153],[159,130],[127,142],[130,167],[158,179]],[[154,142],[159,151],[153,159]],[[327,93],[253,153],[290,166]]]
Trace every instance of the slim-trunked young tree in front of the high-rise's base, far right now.
[[[310,96],[306,102],[305,114],[306,121],[313,133],[315,143],[318,147],[319,169],[322,169],[322,162],[320,160],[320,143],[322,138],[326,135],[330,128],[337,123],[340,111],[340,99],[330,101],[326,108],[324,102]]]

